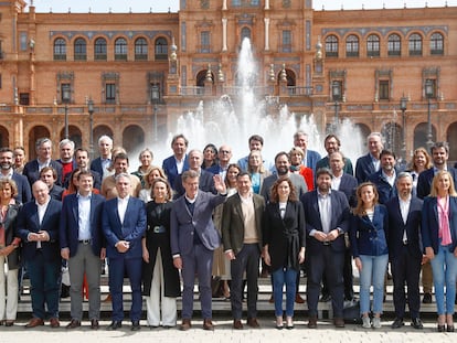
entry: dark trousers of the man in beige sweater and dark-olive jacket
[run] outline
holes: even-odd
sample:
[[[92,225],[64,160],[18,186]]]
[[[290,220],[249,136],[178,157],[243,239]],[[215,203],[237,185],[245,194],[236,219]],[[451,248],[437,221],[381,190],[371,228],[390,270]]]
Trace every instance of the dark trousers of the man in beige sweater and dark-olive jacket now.
[[[231,261],[231,302],[232,315],[241,319],[243,313],[243,272],[247,280],[247,318],[257,317],[258,261],[261,250],[258,244],[245,244],[236,258]]]

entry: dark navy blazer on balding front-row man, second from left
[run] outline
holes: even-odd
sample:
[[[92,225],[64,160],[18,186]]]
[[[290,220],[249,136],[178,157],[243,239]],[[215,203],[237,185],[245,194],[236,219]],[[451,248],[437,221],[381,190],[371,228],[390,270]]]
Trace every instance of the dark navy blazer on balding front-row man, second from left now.
[[[50,240],[41,243],[41,251],[44,260],[54,261],[61,259],[59,246],[59,225],[61,221],[62,203],[50,199],[46,212],[40,224],[35,201],[25,203],[18,215],[18,235],[22,239],[22,257],[32,260],[36,255],[36,242],[29,242],[30,233],[47,232]]]

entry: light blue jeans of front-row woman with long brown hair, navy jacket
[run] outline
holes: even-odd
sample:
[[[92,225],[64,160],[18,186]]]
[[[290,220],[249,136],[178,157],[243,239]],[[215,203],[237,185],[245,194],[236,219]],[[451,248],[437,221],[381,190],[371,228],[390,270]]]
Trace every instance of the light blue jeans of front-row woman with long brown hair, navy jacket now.
[[[360,255],[362,270],[360,271],[360,313],[370,312],[370,287],[373,285],[373,312],[382,313],[384,297],[384,276],[387,268],[389,255]]]

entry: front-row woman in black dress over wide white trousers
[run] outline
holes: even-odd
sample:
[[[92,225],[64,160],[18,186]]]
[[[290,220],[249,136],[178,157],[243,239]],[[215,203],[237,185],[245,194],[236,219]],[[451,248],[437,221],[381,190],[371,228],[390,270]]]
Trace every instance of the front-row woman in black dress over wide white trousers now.
[[[146,205],[148,227],[142,238],[142,281],[148,325],[164,328],[177,323],[177,297],[180,294],[178,269],[173,266],[170,248],[170,213],[172,191],[169,183],[156,179],[152,201]]]

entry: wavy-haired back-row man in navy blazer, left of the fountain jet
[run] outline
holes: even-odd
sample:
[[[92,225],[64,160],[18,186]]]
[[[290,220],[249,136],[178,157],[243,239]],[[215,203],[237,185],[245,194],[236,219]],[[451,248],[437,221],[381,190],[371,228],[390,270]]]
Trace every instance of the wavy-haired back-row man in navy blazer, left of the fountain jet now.
[[[173,187],[174,179],[189,170],[189,160],[185,151],[188,150],[189,140],[184,135],[177,135],[171,140],[171,149],[173,154],[164,159],[162,162],[162,169],[168,178],[168,182]]]

